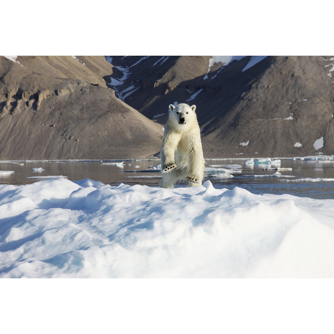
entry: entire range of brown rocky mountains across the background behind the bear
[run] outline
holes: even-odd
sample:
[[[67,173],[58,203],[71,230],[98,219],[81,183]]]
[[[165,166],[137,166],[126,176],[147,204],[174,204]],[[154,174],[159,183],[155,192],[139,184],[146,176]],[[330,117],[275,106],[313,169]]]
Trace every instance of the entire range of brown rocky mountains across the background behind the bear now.
[[[181,102],[205,158],[331,155],[333,72],[333,56],[0,56],[0,160],[157,156]]]

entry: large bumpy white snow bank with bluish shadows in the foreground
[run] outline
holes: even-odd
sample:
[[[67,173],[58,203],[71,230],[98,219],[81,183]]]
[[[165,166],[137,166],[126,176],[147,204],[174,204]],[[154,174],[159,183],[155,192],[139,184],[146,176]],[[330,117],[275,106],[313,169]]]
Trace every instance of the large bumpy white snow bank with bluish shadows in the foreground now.
[[[334,277],[334,200],[85,179],[0,185],[1,278]]]

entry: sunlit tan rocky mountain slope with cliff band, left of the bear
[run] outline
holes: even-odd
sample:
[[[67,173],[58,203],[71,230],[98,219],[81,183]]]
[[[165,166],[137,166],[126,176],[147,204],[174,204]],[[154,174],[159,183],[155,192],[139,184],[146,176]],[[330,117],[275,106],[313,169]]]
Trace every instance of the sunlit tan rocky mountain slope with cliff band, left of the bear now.
[[[0,56],[0,159],[124,159],[158,152],[162,127],[107,87],[103,77],[113,70],[104,56]]]

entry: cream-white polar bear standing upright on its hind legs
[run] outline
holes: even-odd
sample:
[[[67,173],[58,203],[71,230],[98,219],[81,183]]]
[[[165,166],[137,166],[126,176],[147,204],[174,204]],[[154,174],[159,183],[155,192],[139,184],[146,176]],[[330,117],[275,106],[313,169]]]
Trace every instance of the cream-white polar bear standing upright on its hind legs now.
[[[173,188],[181,180],[188,180],[190,187],[202,184],[205,161],[195,109],[185,103],[169,105],[160,151],[161,188]]]

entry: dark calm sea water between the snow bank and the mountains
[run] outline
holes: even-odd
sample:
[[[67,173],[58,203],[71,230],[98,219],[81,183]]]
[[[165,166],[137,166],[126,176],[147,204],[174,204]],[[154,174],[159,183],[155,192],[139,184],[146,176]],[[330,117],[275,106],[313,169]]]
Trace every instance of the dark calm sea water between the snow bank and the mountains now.
[[[244,163],[245,161],[246,159],[207,160],[206,167],[225,165],[222,168],[232,167],[233,170],[241,170],[241,173],[233,173],[232,178],[206,177],[206,179],[209,179],[215,188],[241,187],[254,194],[286,193],[300,197],[334,199],[334,160],[281,159],[281,164],[272,165],[248,165]],[[159,185],[161,173],[147,170],[160,164],[160,160],[123,160],[123,166],[111,165],[112,162],[115,161],[2,161],[0,184],[20,185],[38,182],[42,178],[66,176],[72,181],[89,178],[110,185],[120,183]],[[235,165],[241,168],[236,168]],[[276,167],[292,168],[292,170],[278,170],[282,176],[272,177],[271,175],[277,172],[274,170]],[[44,171],[32,171],[33,168],[42,168]],[[14,171],[14,173],[3,175],[1,174],[3,171]],[[186,186],[186,184],[176,186]]]

